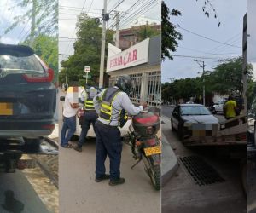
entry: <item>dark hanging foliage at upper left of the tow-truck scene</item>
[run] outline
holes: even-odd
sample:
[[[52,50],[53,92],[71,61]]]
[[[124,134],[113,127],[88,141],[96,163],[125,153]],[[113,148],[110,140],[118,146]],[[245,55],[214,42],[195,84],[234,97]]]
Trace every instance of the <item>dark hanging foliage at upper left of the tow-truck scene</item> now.
[[[176,31],[176,27],[170,22],[170,16],[181,15],[181,12],[177,9],[170,9],[166,6],[166,3],[162,1],[162,60],[165,58],[172,58],[172,52],[177,49],[177,40],[182,40],[182,34]]]

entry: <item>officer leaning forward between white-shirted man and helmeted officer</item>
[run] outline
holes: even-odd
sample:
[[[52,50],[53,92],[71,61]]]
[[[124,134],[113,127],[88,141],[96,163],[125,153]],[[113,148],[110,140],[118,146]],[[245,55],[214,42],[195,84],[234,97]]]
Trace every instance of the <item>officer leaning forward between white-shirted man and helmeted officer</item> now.
[[[93,105],[93,98],[96,95],[97,89],[95,89],[94,87],[90,87],[89,92],[87,92],[86,89],[84,89],[81,94],[81,103],[82,107],[84,108],[84,120],[81,125],[82,131],[81,135],[79,136],[79,142],[77,146],[73,147],[78,152],[82,152],[82,146],[86,140],[86,135],[88,130],[90,129],[90,124],[92,124],[93,129],[95,130],[95,122],[98,118],[98,115]]]

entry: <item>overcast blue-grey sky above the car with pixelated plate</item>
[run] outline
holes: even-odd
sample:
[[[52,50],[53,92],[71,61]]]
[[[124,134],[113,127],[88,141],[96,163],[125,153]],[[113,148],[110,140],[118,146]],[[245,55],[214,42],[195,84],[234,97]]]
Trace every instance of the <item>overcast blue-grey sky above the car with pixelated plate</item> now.
[[[194,60],[204,60],[206,70],[211,71],[212,66],[217,65],[225,58],[242,54],[242,20],[247,12],[247,0],[209,0],[208,2],[212,3],[212,8],[215,9],[218,19],[214,18],[214,11],[210,6],[207,7],[207,11],[210,11],[209,18],[204,14],[202,11],[204,0],[166,0],[165,2],[170,9],[180,10],[182,15],[172,16],[171,21],[186,30],[180,27],[176,28],[178,32],[182,33],[183,40],[178,41],[177,52],[173,55],[200,56],[204,59],[175,56],[174,60],[164,60],[162,62],[163,83],[173,79],[201,76],[201,62],[198,64]],[[219,27],[218,20],[221,23]],[[220,43],[196,36],[191,32]]]

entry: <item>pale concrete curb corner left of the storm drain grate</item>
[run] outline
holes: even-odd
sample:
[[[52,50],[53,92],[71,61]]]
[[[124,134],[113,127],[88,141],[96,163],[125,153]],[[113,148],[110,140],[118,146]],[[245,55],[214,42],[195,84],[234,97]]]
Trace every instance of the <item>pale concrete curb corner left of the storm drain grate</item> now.
[[[162,134],[162,147],[164,148],[165,151],[163,153],[167,153],[167,158],[162,157],[162,171],[163,171],[163,166],[165,166],[167,169],[162,172],[161,175],[161,182],[162,186],[166,184],[167,181],[169,181],[172,176],[177,172],[178,169],[178,161],[175,153],[172,150],[171,145],[167,142],[166,136]],[[172,159],[171,159],[172,158]],[[171,160],[174,160],[174,163],[171,164]],[[166,161],[166,164],[164,165],[164,161]]]

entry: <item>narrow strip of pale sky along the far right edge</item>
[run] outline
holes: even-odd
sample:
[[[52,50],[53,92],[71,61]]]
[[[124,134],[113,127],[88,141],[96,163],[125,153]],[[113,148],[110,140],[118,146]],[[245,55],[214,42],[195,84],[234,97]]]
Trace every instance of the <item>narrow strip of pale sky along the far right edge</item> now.
[[[256,1],[248,0],[248,13],[247,13],[247,61],[253,64],[254,79],[256,77]]]

